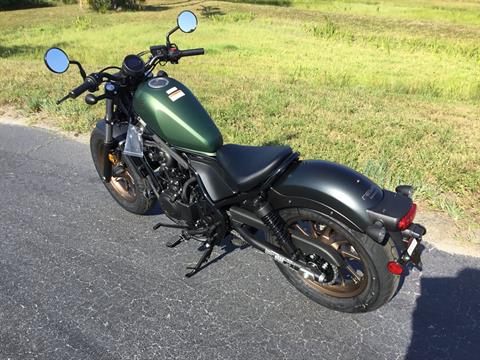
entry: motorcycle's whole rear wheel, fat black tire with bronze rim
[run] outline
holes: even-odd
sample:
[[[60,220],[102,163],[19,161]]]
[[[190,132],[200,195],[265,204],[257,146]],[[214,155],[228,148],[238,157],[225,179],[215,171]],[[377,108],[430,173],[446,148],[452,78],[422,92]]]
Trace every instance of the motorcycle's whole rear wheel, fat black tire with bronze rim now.
[[[387,270],[387,263],[398,257],[393,241],[380,245],[367,235],[309,209],[284,209],[280,216],[289,229],[333,247],[347,264],[337,269],[336,278],[327,285],[305,279],[301,273],[276,263],[301,293],[327,308],[349,313],[378,309],[394,296],[400,277]],[[273,234],[267,237],[269,242],[276,243]],[[318,256],[305,255],[314,266]]]

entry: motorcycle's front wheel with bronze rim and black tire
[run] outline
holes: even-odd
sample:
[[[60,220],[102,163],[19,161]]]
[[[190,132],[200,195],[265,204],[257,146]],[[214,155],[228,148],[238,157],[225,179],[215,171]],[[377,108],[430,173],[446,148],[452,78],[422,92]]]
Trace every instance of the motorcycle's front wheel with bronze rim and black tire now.
[[[90,137],[90,152],[93,163],[100,179],[103,174],[103,153],[105,135],[94,129]],[[125,168],[122,176],[113,177],[109,183],[103,182],[108,192],[115,201],[125,210],[138,215],[150,211],[155,204],[155,199],[145,196],[148,184],[133,169],[133,164],[126,156],[122,156],[119,163]]]

